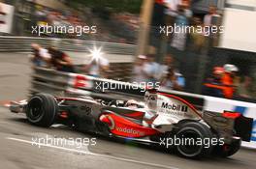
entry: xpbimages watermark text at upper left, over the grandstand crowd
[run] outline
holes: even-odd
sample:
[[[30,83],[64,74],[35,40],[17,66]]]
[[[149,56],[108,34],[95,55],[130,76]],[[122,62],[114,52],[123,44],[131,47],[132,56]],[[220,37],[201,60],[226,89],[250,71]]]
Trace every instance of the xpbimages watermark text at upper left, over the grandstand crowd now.
[[[52,26],[48,23],[44,26],[32,26],[32,34],[37,34],[38,36],[44,34],[75,34],[76,36],[81,36],[82,34],[96,34],[97,26]]]

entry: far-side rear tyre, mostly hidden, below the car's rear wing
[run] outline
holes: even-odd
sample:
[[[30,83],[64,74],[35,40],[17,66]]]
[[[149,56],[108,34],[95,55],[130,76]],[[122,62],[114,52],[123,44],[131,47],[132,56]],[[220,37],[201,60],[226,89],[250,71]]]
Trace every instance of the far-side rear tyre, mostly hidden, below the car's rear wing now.
[[[228,157],[235,155],[240,150],[240,139],[234,139],[230,144],[216,146],[213,153],[221,157]]]

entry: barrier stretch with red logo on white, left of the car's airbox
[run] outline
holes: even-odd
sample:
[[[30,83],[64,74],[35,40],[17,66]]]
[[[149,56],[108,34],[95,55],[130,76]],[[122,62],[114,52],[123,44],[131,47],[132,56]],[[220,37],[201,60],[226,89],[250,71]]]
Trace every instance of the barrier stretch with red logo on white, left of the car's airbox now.
[[[112,89],[111,85],[117,83],[119,88]],[[30,95],[44,92],[57,96],[86,95],[105,99],[123,99],[125,95],[125,99],[142,99],[144,95],[142,90],[140,86],[127,82],[96,78],[79,73],[34,68],[29,92]]]

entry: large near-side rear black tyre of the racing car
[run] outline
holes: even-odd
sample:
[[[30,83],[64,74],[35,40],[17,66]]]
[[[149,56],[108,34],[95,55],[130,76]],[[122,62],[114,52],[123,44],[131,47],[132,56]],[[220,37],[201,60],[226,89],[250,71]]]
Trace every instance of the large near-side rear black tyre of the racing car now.
[[[176,151],[185,157],[201,158],[210,155],[213,148],[210,144],[212,132],[206,125],[199,122],[183,123],[177,129],[176,138],[183,140],[182,143],[180,141],[180,144],[176,145]]]

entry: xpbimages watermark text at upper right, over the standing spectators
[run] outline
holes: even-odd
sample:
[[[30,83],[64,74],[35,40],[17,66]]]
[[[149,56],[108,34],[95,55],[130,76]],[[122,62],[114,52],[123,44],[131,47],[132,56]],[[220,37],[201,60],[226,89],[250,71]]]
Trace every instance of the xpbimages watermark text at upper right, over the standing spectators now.
[[[171,36],[172,34],[202,34],[205,36],[210,36],[213,34],[223,34],[224,26],[189,26],[189,25],[173,25],[159,26],[159,33],[166,36]]]

